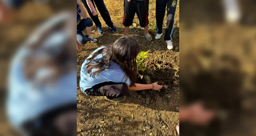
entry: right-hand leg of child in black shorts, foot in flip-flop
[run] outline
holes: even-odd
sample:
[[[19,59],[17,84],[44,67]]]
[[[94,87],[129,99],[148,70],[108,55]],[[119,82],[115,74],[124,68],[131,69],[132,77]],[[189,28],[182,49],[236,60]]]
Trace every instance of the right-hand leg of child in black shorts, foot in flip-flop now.
[[[151,35],[148,33],[148,0],[138,1],[135,0],[136,13],[140,20],[140,26],[144,28],[144,34],[148,41],[152,40]]]

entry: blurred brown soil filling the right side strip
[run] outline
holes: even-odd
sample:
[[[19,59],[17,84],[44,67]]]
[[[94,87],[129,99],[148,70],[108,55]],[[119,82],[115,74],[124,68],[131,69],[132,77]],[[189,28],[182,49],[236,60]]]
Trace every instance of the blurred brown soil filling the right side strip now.
[[[222,0],[181,1],[180,108],[202,101],[216,111],[206,126],[181,122],[183,135],[256,135],[255,1],[237,2],[236,22]]]

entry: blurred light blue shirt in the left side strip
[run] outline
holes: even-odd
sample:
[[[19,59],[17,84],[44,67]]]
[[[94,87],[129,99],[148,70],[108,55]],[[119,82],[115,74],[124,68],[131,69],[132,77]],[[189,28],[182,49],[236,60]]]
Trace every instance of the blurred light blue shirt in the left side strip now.
[[[19,49],[14,56],[9,73],[6,111],[16,129],[42,113],[60,106],[76,103],[76,70],[62,75],[56,83],[35,86],[24,75],[23,60],[29,51],[25,47]],[[41,69],[37,75],[49,74],[49,70]]]

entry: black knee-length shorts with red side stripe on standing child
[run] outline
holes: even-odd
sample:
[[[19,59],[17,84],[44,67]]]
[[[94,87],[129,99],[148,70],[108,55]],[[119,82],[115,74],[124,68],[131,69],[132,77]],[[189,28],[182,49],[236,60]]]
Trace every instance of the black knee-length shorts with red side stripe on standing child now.
[[[140,20],[140,26],[146,27],[148,24],[148,1],[149,0],[124,0],[124,18],[123,25],[129,27],[132,25],[135,13]]]

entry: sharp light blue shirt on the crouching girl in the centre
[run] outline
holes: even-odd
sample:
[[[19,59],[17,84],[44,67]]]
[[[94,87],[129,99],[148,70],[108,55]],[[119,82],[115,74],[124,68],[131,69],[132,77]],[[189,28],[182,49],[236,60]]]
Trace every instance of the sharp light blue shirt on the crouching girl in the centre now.
[[[93,53],[96,51],[105,48],[105,47],[100,47],[96,49]],[[92,54],[93,54],[92,53]],[[92,54],[87,57],[90,58]],[[95,60],[98,60],[102,58],[104,54],[99,54],[98,56],[95,57]],[[111,67],[108,69],[105,69],[104,71],[101,71],[98,76],[97,74],[93,74],[90,77],[90,73],[86,72],[86,63],[88,63],[88,60],[85,60],[84,63],[82,64],[81,67],[81,73],[80,73],[80,88],[82,91],[85,91],[86,89],[89,89],[93,87],[94,85],[97,85],[99,83],[103,82],[116,82],[116,83],[125,83],[126,80],[126,73],[123,71],[123,69],[116,63],[111,62]],[[92,63],[95,63],[95,61],[92,61]],[[91,72],[97,71],[96,68],[92,69]],[[129,86],[131,84],[130,79],[128,78],[126,81],[126,84]]]

